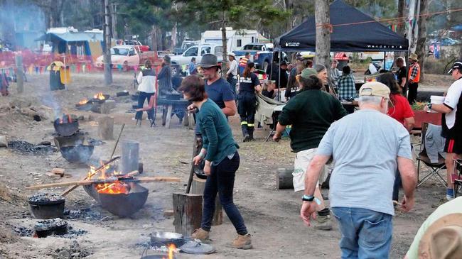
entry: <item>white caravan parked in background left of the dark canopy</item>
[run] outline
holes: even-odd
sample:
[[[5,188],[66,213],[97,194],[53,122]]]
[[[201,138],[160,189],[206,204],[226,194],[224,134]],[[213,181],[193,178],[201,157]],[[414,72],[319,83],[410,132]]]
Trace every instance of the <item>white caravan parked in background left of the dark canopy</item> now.
[[[258,31],[255,30],[233,30],[231,27],[226,28],[227,52],[240,50],[244,45],[249,43],[259,43],[267,40]],[[200,38],[201,43],[215,43],[222,45],[221,30],[205,31]]]

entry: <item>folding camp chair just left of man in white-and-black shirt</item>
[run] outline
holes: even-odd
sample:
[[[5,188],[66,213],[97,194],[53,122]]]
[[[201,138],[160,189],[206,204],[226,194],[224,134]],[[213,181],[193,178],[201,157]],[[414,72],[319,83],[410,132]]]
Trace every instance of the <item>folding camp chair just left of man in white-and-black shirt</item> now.
[[[425,150],[425,136],[428,127],[429,123],[422,123],[421,151],[419,153],[419,156],[417,157],[417,179],[419,179],[420,162],[423,162],[427,167],[429,167],[431,169],[431,172],[429,172],[428,175],[425,175],[425,177],[422,178],[422,180],[419,180],[419,184],[417,184],[417,187],[419,187],[426,180],[429,180],[433,176],[436,176],[441,183],[447,186],[446,180],[444,180],[444,178],[441,177],[441,175],[439,174],[441,170],[446,169],[446,162],[444,158],[440,154],[438,154],[438,162],[433,163],[431,162],[429,155],[427,155]]]

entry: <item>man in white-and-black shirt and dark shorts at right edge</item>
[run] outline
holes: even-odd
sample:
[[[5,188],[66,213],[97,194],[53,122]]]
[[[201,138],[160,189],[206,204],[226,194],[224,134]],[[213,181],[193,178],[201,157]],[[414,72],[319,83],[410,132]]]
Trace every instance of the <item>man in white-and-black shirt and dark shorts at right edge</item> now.
[[[451,200],[454,197],[453,175],[454,159],[461,158],[462,154],[462,60],[454,62],[449,73],[456,80],[451,84],[448,93],[444,98],[443,104],[427,104],[424,110],[436,111],[441,116],[441,136],[446,138],[444,151],[446,155],[446,168],[448,189],[446,189],[446,199]]]

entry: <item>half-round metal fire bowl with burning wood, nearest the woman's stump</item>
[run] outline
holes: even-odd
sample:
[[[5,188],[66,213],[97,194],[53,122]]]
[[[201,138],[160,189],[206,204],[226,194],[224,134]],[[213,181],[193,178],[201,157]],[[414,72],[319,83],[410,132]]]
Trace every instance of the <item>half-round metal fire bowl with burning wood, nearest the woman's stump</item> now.
[[[84,185],[83,188],[88,195],[100,202],[103,209],[114,215],[125,217],[139,211],[146,203],[148,198],[148,189],[142,187],[136,182],[127,182],[129,184],[129,193],[99,193],[96,189],[97,184]]]

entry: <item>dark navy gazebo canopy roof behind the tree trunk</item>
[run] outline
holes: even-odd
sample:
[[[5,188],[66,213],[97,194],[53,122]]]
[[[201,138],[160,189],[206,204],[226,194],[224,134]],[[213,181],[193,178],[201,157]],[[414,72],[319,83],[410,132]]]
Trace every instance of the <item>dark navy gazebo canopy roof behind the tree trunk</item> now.
[[[372,17],[342,0],[329,6],[331,13],[331,51],[407,51],[408,40],[394,33]],[[345,24],[348,23],[348,24]],[[357,23],[357,24],[351,24]],[[343,25],[345,24],[345,25]],[[316,49],[314,16],[276,38],[275,50],[301,51]]]

